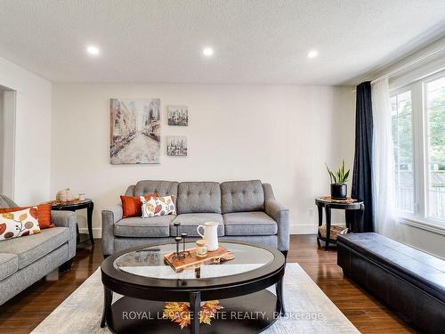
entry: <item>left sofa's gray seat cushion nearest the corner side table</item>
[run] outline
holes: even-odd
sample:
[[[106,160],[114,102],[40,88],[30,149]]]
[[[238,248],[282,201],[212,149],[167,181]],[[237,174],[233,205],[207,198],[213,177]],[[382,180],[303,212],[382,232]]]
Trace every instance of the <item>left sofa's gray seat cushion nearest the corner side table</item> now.
[[[38,234],[25,238],[4,240],[0,242],[0,253],[15,254],[19,257],[19,269],[44,257],[69,240],[68,227],[45,229]]]

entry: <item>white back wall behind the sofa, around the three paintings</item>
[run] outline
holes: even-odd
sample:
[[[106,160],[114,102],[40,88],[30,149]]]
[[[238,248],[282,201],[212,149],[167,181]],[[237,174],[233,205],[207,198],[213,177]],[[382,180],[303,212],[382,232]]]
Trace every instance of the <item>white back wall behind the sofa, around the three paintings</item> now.
[[[161,99],[160,164],[109,164],[109,99],[116,97]],[[190,126],[166,125],[169,104],[189,106]],[[101,210],[141,179],[258,178],[291,209],[294,232],[315,232],[313,199],[328,193],[325,161],[352,166],[353,115],[352,87],[54,84],[51,193],[85,192],[99,229]],[[188,135],[189,156],[167,157],[166,134]]]

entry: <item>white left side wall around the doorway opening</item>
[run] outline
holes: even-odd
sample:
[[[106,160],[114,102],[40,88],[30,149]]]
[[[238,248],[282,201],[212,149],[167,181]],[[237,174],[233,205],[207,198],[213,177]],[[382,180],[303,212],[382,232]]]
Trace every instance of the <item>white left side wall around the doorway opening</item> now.
[[[14,200],[20,205],[49,200],[52,85],[3,58],[0,85],[17,91]]]

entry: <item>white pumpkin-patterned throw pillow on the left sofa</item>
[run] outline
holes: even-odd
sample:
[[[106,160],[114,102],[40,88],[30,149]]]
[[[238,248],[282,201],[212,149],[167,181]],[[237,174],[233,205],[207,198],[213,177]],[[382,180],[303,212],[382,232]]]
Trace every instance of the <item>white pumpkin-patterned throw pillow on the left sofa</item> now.
[[[37,207],[0,215],[0,240],[40,233]]]

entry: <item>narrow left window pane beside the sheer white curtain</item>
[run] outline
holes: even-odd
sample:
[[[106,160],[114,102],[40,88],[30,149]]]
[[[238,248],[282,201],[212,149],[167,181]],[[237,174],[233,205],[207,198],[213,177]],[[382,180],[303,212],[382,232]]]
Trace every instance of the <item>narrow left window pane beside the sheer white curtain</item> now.
[[[396,207],[414,213],[414,139],[411,91],[391,98]]]

